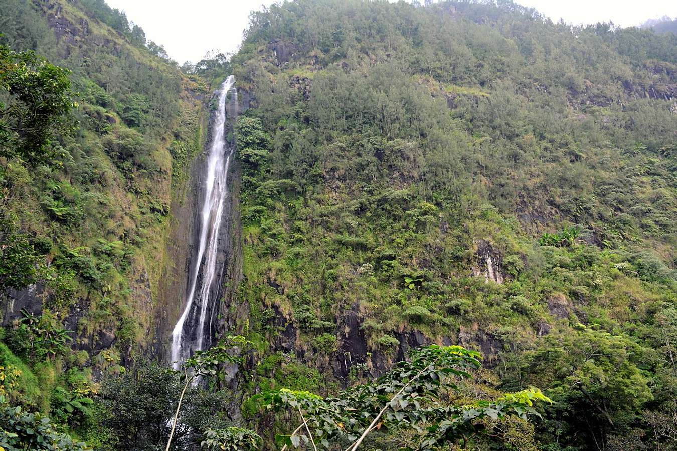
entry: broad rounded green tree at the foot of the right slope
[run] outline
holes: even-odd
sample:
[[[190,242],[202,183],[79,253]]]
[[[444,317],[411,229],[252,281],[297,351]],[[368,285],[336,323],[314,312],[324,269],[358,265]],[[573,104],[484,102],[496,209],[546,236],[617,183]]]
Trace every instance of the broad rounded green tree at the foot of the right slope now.
[[[645,352],[626,337],[577,328],[552,333],[536,350],[513,356],[521,373],[515,384],[549,387],[546,393],[555,404],[546,420],[567,419],[589,446],[603,448],[607,435],[632,424],[653,400],[649,379],[639,368]]]

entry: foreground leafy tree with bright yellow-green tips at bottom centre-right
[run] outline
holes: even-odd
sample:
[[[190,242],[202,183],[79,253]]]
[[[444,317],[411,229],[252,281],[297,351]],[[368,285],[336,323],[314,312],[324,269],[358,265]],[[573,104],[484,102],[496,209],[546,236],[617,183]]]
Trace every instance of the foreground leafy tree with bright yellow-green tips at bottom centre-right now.
[[[355,451],[373,431],[415,431],[403,449],[433,450],[462,441],[481,431],[481,420],[538,415],[534,401],[550,402],[538,389],[505,394],[494,401],[478,400],[456,406],[445,394],[458,390],[456,381],[471,377],[480,354],[460,346],[429,346],[414,350],[410,360],[378,379],[328,398],[307,391],[280,389],[261,396],[267,410],[298,412],[301,425],[276,440],[299,448],[311,444],[330,448],[349,442]]]

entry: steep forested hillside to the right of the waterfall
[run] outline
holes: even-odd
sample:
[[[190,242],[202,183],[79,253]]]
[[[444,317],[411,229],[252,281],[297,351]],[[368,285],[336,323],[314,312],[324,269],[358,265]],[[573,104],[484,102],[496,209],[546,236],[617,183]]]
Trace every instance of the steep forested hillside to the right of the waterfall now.
[[[556,402],[529,446],[674,446],[676,57],[513,3],[254,14],[232,64],[257,389],[460,343]]]

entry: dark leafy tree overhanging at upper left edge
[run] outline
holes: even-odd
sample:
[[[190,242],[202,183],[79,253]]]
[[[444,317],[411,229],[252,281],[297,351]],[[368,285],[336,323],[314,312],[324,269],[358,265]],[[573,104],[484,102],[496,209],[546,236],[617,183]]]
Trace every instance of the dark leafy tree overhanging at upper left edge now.
[[[50,137],[67,130],[66,115],[77,106],[69,74],[32,51],[0,44],[0,90],[9,95],[7,105],[0,102],[0,156],[29,164],[49,161]]]

